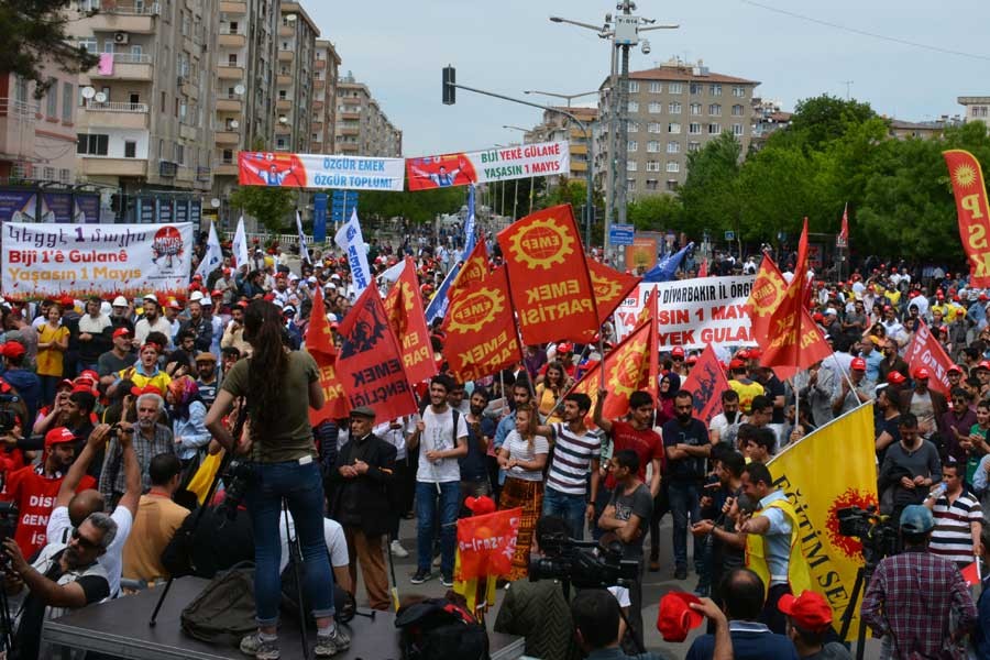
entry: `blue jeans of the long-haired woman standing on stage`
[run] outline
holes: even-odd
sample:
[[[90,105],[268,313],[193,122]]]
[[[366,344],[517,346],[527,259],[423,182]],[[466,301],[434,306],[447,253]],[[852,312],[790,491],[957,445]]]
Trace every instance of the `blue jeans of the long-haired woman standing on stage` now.
[[[293,515],[302,553],[300,570],[306,603],[316,618],[333,616],[333,573],[323,538],[323,481],[316,461],[254,463],[246,505],[254,528],[254,600],[258,626],[278,624],[282,601],[279,519],[282,498]]]

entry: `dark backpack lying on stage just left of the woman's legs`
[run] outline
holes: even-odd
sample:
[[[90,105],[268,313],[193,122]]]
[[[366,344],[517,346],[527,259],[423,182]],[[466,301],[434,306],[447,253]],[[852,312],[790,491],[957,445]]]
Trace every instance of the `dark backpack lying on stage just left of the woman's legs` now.
[[[254,618],[254,564],[241,562],[217,573],[182,614],[186,635],[209,644],[238,646],[257,630]]]

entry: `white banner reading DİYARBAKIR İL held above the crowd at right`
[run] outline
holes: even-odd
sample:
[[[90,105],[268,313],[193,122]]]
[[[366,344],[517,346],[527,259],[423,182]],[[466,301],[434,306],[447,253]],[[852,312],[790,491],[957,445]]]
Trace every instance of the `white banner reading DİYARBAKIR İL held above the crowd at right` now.
[[[616,331],[625,338],[646,304],[658,290],[658,340],[660,350],[673,346],[704,349],[754,346],[749,316],[743,309],[752,288],[752,275],[695,277],[675,282],[641,283],[615,310]]]

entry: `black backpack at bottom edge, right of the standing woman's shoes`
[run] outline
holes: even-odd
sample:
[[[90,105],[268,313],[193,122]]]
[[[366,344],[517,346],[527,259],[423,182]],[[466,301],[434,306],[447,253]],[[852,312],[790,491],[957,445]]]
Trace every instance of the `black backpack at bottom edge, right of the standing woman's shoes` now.
[[[488,635],[471,613],[446,598],[426,598],[399,608],[404,660],[488,660]]]

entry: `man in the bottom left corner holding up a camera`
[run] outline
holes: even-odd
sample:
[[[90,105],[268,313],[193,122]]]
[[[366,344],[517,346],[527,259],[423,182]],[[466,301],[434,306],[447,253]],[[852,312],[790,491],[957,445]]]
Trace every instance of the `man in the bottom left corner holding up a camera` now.
[[[19,659],[52,657],[41,645],[44,622],[110,595],[107,572],[97,560],[116,535],[113,518],[91,514],[73,530],[68,543],[48,543],[34,564],[28,563],[13,539],[3,541],[3,550],[10,558],[10,571],[4,573],[7,592],[16,596],[28,590],[14,634],[13,646]]]

